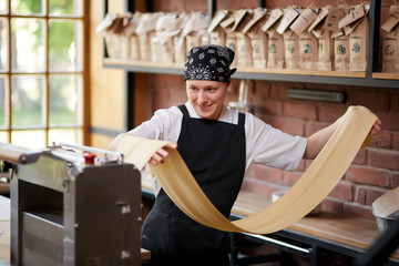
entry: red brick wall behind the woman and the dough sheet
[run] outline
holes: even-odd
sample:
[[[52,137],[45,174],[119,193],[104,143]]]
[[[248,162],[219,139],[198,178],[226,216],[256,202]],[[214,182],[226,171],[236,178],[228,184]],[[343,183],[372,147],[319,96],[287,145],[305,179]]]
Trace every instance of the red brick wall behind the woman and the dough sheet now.
[[[287,4],[306,7],[314,1],[266,1],[266,7]],[[341,1],[344,2],[344,1]],[[355,4],[359,1],[345,1]],[[382,16],[393,1],[383,1]],[[317,4],[336,4],[336,1],[316,1]],[[219,0],[218,8],[254,8],[257,1]],[[204,10],[206,1],[154,1],[154,10],[180,11]],[[237,101],[238,81],[233,81],[233,91],[227,101]],[[152,110],[168,108],[186,101],[185,84],[178,75],[150,75]],[[287,98],[289,88],[340,91],[347,95],[345,103],[325,103]],[[253,81],[249,84],[248,102],[254,104],[254,114],[285,132],[309,136],[315,131],[335,122],[349,105],[365,105],[382,121],[382,132],[372,139],[370,146],[361,150],[339,184],[323,202],[323,209],[374,219],[370,204],[399,183],[399,90],[380,88],[321,85]],[[286,172],[262,165],[253,165],[246,174],[243,190],[260,194],[291,186],[310,164],[300,163],[296,172]]]

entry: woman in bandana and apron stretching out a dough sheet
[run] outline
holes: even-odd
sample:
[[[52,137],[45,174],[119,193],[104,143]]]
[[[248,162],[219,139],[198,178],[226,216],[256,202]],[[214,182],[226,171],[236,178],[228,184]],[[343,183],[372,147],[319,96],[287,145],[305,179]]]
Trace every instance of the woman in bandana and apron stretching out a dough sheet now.
[[[228,109],[229,69],[234,52],[219,45],[202,45],[187,53],[184,80],[188,101],[158,110],[125,134],[167,140],[212,203],[228,217],[244,173],[252,163],[294,171],[299,161],[315,158],[334,132],[327,126],[310,137],[293,136],[272,127],[250,113]],[[375,131],[380,130],[380,122]],[[116,146],[124,134],[111,146]],[[160,149],[150,163],[162,163]],[[168,198],[156,183],[156,200],[142,228],[142,247],[151,250],[152,265],[228,265],[228,234],[196,223]]]

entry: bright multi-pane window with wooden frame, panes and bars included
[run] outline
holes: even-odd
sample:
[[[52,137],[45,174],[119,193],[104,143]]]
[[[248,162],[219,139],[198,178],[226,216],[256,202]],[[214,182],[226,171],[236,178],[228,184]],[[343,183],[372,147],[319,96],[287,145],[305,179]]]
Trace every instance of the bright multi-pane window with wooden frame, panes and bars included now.
[[[0,0],[0,142],[83,144],[84,0]]]

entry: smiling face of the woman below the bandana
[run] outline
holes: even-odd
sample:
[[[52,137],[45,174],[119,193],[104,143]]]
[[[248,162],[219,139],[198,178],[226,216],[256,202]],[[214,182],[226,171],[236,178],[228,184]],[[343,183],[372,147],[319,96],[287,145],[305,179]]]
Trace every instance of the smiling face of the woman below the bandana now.
[[[217,120],[223,110],[229,82],[188,80],[186,91],[190,102],[203,119]]]

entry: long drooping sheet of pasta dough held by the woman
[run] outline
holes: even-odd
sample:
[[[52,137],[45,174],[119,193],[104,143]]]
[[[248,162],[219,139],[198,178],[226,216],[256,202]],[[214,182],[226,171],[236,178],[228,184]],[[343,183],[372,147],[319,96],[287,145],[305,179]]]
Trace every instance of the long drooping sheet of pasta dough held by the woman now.
[[[163,164],[150,167],[172,201],[196,222],[226,232],[268,234],[283,229],[303,218],[316,207],[337,185],[365,140],[377,116],[364,106],[350,106],[336,121],[336,130],[325,147],[303,176],[277,202],[248,217],[229,222],[209,202],[176,150]],[[167,144],[127,135],[116,151],[125,155],[125,162],[143,168],[155,151]],[[234,143],[232,143],[234,145]]]

